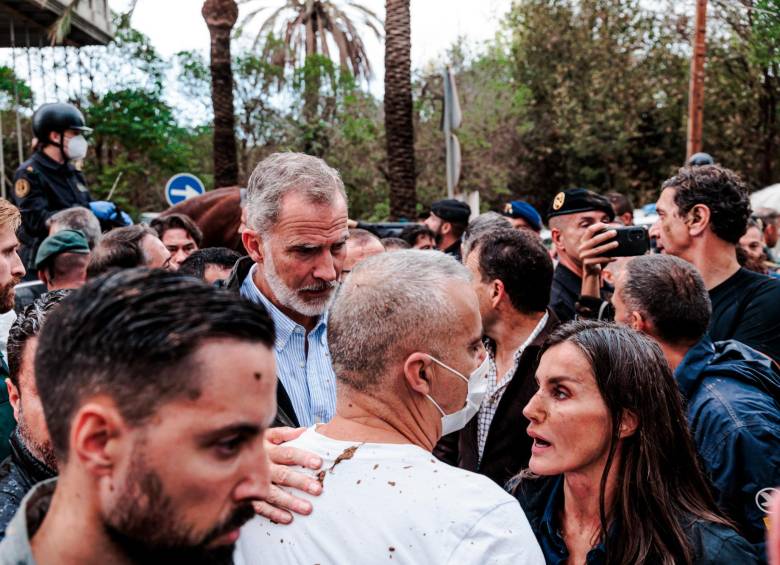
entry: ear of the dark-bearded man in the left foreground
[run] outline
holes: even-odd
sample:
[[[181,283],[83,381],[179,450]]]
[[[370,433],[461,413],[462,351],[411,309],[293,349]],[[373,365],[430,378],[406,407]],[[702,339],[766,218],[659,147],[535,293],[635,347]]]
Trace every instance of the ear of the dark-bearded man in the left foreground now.
[[[129,428],[118,407],[108,397],[96,397],[84,404],[71,420],[71,457],[79,459],[95,476],[109,475],[122,450]]]

